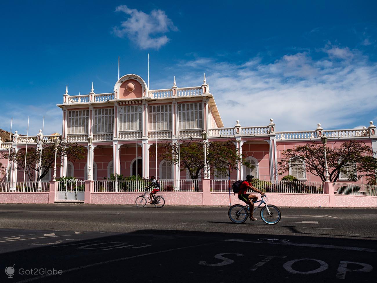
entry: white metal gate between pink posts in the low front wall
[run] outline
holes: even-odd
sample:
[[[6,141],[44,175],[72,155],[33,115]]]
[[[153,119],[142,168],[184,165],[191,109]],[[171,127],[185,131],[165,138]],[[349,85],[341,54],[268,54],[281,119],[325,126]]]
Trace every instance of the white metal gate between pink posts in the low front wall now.
[[[80,180],[59,181],[58,201],[83,201],[85,193],[85,183]]]

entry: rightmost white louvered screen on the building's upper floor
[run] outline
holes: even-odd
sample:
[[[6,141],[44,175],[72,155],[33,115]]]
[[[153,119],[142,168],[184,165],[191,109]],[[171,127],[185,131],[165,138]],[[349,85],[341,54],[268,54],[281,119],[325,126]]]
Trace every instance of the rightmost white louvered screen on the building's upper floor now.
[[[202,103],[179,104],[179,129],[202,128]]]

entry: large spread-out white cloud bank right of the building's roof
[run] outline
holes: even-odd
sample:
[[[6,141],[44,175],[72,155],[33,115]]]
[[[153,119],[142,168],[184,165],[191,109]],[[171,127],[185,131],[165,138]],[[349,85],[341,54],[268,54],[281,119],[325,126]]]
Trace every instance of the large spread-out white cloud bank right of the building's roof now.
[[[226,127],[236,120],[242,126],[267,125],[270,118],[277,131],[313,130],[317,123],[325,129],[368,124],[372,117],[359,117],[377,108],[368,103],[377,101],[377,64],[358,50],[326,50],[316,60],[310,52],[284,55],[270,64],[259,57],[238,64],[200,58],[180,62],[174,70],[178,87],[199,85],[199,70],[206,73]]]

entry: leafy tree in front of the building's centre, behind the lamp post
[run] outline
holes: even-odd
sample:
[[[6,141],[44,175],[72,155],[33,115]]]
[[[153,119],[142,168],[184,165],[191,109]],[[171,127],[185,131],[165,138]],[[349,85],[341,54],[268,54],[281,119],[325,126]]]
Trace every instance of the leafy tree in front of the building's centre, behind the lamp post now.
[[[165,143],[159,145],[163,148],[163,153],[159,154],[162,159],[169,160],[172,164],[179,164],[178,149],[180,156],[180,170],[188,170],[190,178],[193,180],[195,190],[198,190],[198,176],[200,171],[204,169],[204,146],[207,153],[208,169],[216,168],[218,175],[228,173],[228,164],[231,170],[236,169],[238,162],[242,162],[244,166],[253,168],[249,162],[246,162],[234,146],[233,141],[194,141],[192,138],[181,140],[182,144]],[[152,148],[153,152],[153,148]],[[182,168],[184,167],[184,168]]]

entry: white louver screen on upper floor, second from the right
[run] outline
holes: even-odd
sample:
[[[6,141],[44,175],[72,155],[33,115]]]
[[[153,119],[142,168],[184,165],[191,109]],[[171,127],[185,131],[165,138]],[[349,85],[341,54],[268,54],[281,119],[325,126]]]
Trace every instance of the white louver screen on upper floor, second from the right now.
[[[149,106],[149,131],[156,131],[156,127],[157,131],[172,129],[172,105]]]

